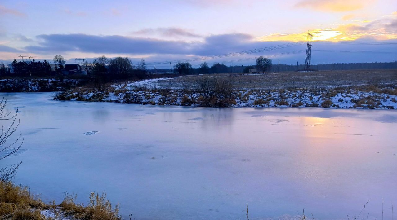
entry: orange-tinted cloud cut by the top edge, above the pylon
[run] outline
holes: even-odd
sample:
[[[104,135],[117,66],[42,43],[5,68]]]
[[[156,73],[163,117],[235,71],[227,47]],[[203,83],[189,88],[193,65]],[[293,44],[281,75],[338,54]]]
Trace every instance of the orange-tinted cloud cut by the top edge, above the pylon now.
[[[364,8],[373,0],[301,0],[295,7],[312,8],[318,11],[355,11]]]

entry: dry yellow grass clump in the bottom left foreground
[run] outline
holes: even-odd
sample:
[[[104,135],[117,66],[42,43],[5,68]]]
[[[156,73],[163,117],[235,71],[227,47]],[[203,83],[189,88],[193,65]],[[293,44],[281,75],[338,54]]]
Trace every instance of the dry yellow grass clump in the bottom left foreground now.
[[[66,196],[61,204],[42,202],[27,186],[12,182],[0,182],[0,219],[7,220],[54,220],[72,218],[77,220],[121,220],[119,204],[112,209],[106,194],[91,192],[87,206],[76,203],[76,197]],[[51,216],[45,215],[48,210]]]

